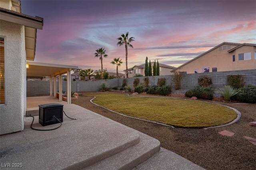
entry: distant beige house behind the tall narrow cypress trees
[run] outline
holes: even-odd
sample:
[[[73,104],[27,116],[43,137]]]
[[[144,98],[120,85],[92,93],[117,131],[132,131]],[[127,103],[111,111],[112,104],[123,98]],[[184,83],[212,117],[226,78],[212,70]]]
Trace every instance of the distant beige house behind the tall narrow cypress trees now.
[[[151,62],[152,75],[153,75],[153,65],[154,65],[154,62]],[[170,71],[174,69],[176,69],[176,67],[159,63],[160,75],[170,75]],[[124,74],[126,75],[126,70],[124,70]],[[145,63],[142,65],[134,65],[132,68],[128,69],[128,77],[134,77],[134,75],[136,74],[141,74],[145,76]]]

